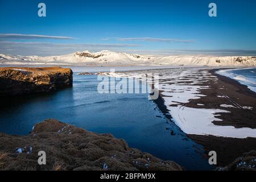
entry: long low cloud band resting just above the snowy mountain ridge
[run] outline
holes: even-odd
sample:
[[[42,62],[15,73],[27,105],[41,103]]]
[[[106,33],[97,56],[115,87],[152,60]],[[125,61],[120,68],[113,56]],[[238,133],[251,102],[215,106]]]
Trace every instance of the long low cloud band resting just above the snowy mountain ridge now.
[[[136,48],[137,47],[137,48]],[[10,55],[65,55],[76,51],[98,52],[104,49],[116,52],[138,53],[144,55],[214,55],[214,56],[256,56],[253,49],[143,49],[139,44],[72,44],[47,42],[9,42],[0,41],[0,53]]]

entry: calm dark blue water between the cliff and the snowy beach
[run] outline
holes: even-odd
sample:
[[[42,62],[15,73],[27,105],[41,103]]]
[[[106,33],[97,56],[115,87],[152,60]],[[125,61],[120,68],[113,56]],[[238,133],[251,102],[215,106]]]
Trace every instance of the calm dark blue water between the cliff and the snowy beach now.
[[[27,135],[35,123],[57,118],[96,133],[112,133],[130,147],[187,169],[212,168],[203,147],[185,137],[147,94],[99,94],[97,84],[96,76],[74,75],[73,88],[2,99],[0,132]]]

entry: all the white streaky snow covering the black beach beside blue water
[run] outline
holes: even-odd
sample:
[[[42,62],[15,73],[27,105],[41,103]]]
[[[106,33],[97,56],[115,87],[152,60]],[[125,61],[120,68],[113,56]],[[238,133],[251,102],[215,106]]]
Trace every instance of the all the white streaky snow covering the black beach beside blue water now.
[[[176,125],[184,133],[232,138],[256,137],[256,129],[236,129],[233,126],[214,125],[213,121],[221,121],[216,116],[221,113],[229,113],[227,110],[198,109],[186,106],[193,99],[205,97],[200,94],[201,89],[209,89],[209,86],[203,86],[202,83],[217,80],[208,71],[204,71],[203,68],[185,68],[156,72],[159,73],[159,81],[155,83],[155,86],[162,92],[164,104]],[[150,71],[147,71],[147,73],[150,73]],[[113,77],[131,77],[129,73],[102,73],[102,75],[104,74]],[[135,73],[133,77],[145,80],[146,72]],[[147,82],[151,81],[147,80]],[[231,105],[225,104],[222,106],[231,107]]]

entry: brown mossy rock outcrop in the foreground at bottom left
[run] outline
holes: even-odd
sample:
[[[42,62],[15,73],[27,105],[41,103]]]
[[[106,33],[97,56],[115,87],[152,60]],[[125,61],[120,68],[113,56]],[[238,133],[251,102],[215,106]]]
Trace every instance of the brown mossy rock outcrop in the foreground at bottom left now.
[[[46,152],[46,165],[38,152]],[[0,170],[183,170],[111,134],[96,134],[47,119],[28,136],[0,134]]]

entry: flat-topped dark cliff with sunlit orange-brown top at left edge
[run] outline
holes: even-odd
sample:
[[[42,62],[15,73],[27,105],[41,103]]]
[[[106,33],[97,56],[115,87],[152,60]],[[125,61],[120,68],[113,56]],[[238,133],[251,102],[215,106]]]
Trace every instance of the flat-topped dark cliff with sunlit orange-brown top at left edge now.
[[[72,85],[69,68],[0,68],[0,96],[51,92]]]

